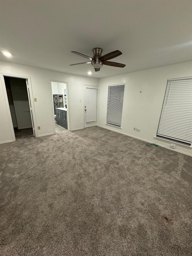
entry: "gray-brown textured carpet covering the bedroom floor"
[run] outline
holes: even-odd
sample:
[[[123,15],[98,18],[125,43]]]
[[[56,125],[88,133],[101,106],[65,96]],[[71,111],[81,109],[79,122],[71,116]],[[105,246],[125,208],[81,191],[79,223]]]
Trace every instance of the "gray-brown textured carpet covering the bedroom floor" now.
[[[192,255],[192,157],[99,127],[0,145],[0,255]]]

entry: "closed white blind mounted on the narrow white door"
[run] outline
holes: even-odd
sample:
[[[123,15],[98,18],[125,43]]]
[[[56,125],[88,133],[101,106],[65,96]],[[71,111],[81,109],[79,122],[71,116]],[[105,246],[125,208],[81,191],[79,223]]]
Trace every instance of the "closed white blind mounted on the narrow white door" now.
[[[86,88],[86,122],[96,121],[97,89]]]

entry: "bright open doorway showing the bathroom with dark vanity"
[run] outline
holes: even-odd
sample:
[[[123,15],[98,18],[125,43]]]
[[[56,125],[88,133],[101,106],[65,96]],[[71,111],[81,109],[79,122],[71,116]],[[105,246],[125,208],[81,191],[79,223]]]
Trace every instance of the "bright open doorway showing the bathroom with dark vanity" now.
[[[54,108],[55,132],[58,133],[67,131],[67,84],[51,81],[51,89]]]

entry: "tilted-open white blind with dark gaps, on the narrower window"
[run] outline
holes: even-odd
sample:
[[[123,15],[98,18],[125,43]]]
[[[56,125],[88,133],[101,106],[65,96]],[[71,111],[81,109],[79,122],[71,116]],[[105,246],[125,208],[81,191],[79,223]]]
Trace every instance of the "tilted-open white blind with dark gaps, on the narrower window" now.
[[[107,124],[121,127],[125,84],[110,85],[107,101]]]

